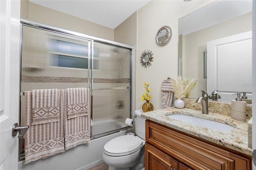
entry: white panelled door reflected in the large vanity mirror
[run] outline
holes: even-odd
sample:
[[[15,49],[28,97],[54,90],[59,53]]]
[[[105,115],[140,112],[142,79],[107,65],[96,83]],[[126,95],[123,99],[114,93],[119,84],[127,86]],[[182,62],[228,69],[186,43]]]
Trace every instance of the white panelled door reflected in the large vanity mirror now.
[[[237,95],[252,95],[252,32],[207,42],[207,93],[218,89],[221,99],[231,102]],[[242,97],[243,94],[241,94]]]

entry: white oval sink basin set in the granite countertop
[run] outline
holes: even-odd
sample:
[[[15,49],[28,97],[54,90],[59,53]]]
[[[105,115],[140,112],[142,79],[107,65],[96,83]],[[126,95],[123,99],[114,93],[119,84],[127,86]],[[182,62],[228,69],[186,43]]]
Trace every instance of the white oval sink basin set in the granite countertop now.
[[[211,121],[207,119],[202,119],[200,117],[194,117],[190,115],[183,115],[183,114],[171,114],[171,115],[166,115],[167,117],[170,117],[172,119],[177,119],[179,121],[183,121],[186,123],[191,123],[193,125],[198,125],[201,127],[205,128],[211,128],[215,130],[224,130],[224,131],[230,131],[235,129],[235,127],[232,127],[230,125],[216,122],[216,121]]]

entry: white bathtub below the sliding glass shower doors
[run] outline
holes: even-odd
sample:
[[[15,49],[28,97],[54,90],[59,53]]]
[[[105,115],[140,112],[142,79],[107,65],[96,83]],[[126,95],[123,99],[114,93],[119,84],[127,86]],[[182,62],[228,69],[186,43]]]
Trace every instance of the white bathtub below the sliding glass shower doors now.
[[[116,121],[104,121],[93,124],[94,134],[102,133],[102,129],[110,131],[116,126],[127,125]],[[87,170],[103,162],[102,152],[106,142],[112,138],[132,132],[131,129],[122,130],[107,136],[92,139],[88,144],[81,144],[65,152],[24,164],[24,160],[18,162],[18,170]]]

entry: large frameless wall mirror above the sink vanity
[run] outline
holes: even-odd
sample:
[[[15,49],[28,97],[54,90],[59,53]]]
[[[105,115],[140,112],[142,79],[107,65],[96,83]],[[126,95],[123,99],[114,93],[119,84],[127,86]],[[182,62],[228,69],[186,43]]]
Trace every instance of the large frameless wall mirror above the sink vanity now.
[[[237,91],[243,92],[242,89],[245,86],[248,86],[248,88],[245,88],[247,92],[246,96],[248,95],[248,98],[251,99],[251,77],[249,76],[250,81],[244,81],[242,79],[244,75],[248,74],[248,70],[243,69],[243,67],[250,67],[251,60],[246,60],[246,63],[243,64],[239,62],[243,60],[243,58],[237,59],[237,63],[231,63],[230,59],[225,60],[224,58],[219,58],[218,63],[214,63],[214,61],[209,62],[210,54],[207,49],[207,42],[242,34],[244,32],[250,32],[252,30],[252,1],[217,0],[180,18],[178,24],[178,74],[183,77],[188,76],[190,78],[198,79],[196,87],[192,90],[191,97],[200,97],[200,90],[207,91],[208,95],[211,95],[215,89],[208,88],[208,85],[212,84],[217,87],[218,94],[220,94],[222,98],[218,99],[218,101],[231,102],[231,99],[234,99],[234,96],[230,95],[230,93],[235,93]],[[239,47],[236,48],[242,49]],[[232,49],[230,47],[229,51],[234,51],[234,49],[235,48]],[[207,51],[207,70],[205,70],[205,72],[207,72],[207,78],[204,74],[204,51]],[[226,53],[224,57],[231,57],[230,54],[233,54],[230,52]],[[250,52],[249,49],[249,55]],[[240,57],[244,57],[245,53],[248,52],[240,52]],[[216,71],[216,67],[218,66],[225,68],[223,69],[224,71],[230,71],[225,72],[225,74],[222,73],[221,80],[225,79],[230,82],[236,82],[232,85],[238,85],[236,89],[227,93],[230,84],[225,84],[223,82],[220,86],[220,79],[218,79],[218,81],[209,81],[211,79],[211,77],[209,77],[209,71]],[[236,73],[232,72],[233,68],[239,69],[240,75],[236,75]],[[216,76],[218,76],[218,74]],[[227,97],[222,97],[222,95],[225,95],[226,93],[228,94]]]

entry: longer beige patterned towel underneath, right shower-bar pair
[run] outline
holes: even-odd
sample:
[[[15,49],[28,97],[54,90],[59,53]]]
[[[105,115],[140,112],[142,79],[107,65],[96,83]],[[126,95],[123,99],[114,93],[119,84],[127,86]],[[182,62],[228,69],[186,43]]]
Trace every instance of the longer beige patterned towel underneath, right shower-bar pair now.
[[[88,89],[89,91],[89,89]],[[89,105],[89,95],[85,95]],[[67,90],[63,90],[63,111],[64,111],[64,136],[65,150],[79,144],[90,142],[90,116],[78,116],[68,119],[67,115]]]

